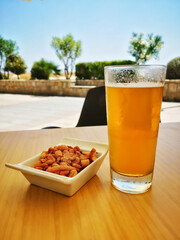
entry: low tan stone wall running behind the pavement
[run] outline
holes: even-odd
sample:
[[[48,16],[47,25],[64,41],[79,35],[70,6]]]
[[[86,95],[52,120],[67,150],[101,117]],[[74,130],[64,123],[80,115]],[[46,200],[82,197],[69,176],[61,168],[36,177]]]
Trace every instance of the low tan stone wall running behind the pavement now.
[[[85,97],[87,91],[104,85],[104,80],[0,80],[0,93]],[[86,84],[86,85],[85,85]],[[164,101],[180,101],[180,80],[166,80]]]

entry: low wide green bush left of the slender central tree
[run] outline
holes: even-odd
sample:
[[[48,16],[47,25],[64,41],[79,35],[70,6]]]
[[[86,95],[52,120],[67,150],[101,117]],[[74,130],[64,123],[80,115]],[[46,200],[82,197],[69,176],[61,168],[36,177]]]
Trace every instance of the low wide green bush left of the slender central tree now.
[[[31,77],[32,79],[49,79],[51,73],[56,75],[60,74],[60,69],[52,63],[47,62],[44,59],[41,59],[38,62],[35,62],[31,69]]]

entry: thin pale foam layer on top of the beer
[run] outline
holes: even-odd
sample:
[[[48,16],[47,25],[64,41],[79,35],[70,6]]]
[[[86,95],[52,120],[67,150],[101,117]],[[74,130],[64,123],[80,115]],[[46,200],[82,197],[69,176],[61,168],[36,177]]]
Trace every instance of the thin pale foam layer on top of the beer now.
[[[150,87],[163,87],[163,82],[131,82],[131,83],[105,83],[106,87],[119,87],[119,88],[150,88]]]

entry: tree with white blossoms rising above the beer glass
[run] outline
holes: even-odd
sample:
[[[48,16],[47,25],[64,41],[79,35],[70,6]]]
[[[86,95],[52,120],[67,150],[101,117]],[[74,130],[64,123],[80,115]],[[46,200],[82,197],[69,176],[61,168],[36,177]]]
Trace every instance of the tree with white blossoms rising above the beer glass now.
[[[162,37],[153,36],[153,33],[148,34],[146,38],[143,33],[132,33],[129,53],[135,57],[137,64],[145,63],[151,58],[158,58],[163,44]]]

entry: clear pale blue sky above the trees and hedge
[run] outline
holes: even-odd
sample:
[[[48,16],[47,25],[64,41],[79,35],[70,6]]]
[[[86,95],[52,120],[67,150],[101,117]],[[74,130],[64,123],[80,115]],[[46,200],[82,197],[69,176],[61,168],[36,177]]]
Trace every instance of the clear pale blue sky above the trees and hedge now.
[[[82,42],[76,61],[134,60],[128,53],[132,32],[161,35],[159,60],[180,56],[180,0],[0,0],[0,35],[16,41],[30,71],[44,58],[63,65],[50,46],[69,33]]]

